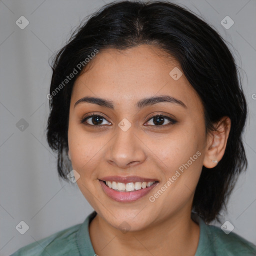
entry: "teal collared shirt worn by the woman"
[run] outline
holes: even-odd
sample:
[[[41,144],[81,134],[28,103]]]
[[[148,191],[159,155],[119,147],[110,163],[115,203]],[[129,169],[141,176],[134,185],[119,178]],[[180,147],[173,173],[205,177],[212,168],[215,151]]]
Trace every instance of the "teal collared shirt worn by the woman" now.
[[[58,231],[38,242],[30,243],[10,256],[94,256],[88,227],[95,215],[96,212],[93,211],[83,223]],[[199,216],[195,214],[192,216],[200,227],[195,256],[256,255],[256,246],[251,242],[233,232],[225,234],[219,227],[205,224]]]

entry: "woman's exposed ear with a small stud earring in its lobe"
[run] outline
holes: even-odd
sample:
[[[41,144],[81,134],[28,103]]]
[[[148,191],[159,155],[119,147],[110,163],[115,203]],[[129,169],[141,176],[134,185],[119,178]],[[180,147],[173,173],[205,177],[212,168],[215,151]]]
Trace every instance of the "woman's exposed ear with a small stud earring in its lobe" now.
[[[207,144],[203,158],[203,166],[206,168],[215,167],[224,155],[231,120],[228,116],[223,116],[214,126],[216,131],[207,134]]]

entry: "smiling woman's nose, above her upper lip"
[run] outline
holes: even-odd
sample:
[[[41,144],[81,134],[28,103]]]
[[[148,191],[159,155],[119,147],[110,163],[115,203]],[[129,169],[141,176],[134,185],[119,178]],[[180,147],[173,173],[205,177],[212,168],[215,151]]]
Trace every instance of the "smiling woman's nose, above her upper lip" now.
[[[141,164],[146,159],[145,145],[132,127],[123,131],[117,128],[116,135],[109,141],[105,157],[108,163],[118,168]]]

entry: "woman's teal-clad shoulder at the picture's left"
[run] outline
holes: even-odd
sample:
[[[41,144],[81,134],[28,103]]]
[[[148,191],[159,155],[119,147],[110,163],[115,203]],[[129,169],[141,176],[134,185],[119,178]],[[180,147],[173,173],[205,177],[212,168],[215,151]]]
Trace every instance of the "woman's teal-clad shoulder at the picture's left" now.
[[[76,255],[75,251],[77,250],[77,253],[79,252],[76,246],[75,236],[80,225],[81,223],[73,225],[38,241],[34,241],[21,247],[10,256],[64,255],[67,252],[72,252],[72,255]]]

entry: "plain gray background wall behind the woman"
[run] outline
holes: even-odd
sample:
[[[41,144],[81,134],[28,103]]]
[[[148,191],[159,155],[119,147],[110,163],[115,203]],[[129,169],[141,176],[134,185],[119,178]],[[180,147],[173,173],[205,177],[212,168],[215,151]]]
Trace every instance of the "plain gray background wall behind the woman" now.
[[[46,143],[48,59],[79,21],[108,2],[0,0],[0,255],[80,223],[92,211],[76,184],[58,179],[56,159]],[[249,106],[244,134],[248,169],[239,177],[223,222],[256,243],[256,1],[175,2],[214,26],[231,43],[239,66]],[[21,15],[29,21],[24,29],[15,24]],[[220,23],[226,15],[234,21],[229,29]],[[23,130],[16,126],[21,118],[28,123]],[[23,235],[15,229],[21,220],[29,226]]]

